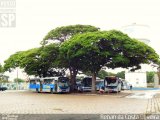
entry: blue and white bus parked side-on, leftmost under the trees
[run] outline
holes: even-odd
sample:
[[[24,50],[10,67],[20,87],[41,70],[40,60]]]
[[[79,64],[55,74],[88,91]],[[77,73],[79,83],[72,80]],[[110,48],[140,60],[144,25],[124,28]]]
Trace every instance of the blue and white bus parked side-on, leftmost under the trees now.
[[[36,92],[68,93],[70,91],[67,77],[45,77],[30,79],[29,89]]]

